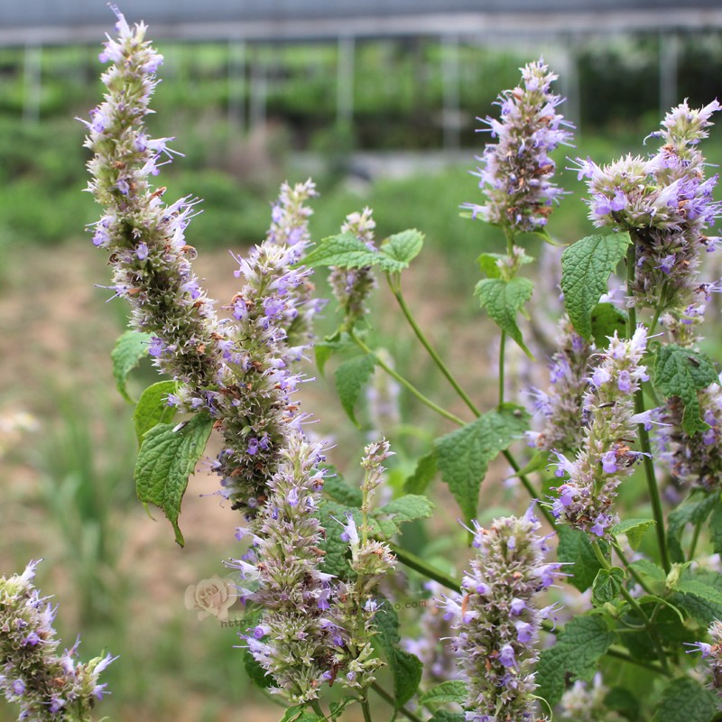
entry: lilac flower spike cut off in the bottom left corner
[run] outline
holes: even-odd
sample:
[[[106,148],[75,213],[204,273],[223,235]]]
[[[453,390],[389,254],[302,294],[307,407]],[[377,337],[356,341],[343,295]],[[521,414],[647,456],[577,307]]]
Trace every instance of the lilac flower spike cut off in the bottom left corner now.
[[[58,607],[34,587],[37,562],[23,574],[0,577],[0,689],[34,722],[90,722],[106,683],[98,680],[114,657],[77,658],[79,640],[58,653],[52,622]]]

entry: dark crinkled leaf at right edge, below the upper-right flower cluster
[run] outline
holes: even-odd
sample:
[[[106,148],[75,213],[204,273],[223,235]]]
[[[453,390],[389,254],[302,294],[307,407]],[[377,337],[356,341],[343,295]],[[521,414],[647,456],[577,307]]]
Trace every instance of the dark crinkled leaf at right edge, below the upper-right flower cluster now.
[[[717,382],[708,356],[676,344],[660,346],[654,356],[654,387],[667,398],[677,396],[684,404],[682,429],[690,434],[709,428],[699,416],[697,392]]]

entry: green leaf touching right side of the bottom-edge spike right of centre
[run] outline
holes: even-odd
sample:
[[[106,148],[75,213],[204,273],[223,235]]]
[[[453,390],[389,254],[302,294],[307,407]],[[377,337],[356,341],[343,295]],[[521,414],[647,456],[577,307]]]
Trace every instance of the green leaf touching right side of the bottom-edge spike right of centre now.
[[[561,630],[554,646],[542,651],[537,664],[536,693],[554,707],[564,692],[567,675],[591,681],[597,671],[597,660],[614,641],[615,634],[601,616],[574,617]]]

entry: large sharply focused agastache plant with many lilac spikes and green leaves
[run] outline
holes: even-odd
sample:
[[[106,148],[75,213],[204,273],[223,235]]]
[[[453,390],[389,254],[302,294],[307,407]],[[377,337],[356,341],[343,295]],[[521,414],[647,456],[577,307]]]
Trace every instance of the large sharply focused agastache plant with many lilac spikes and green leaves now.
[[[486,277],[476,295],[501,339],[498,395],[490,402],[481,394],[482,406],[404,298],[403,273],[421,253],[421,232],[384,238],[365,208],[314,245],[310,180],[282,186],[264,241],[234,254],[238,292],[215,310],[183,237],[195,199],[167,206],[162,189],[149,182],[171,153],[168,140],[149,138],[143,125],[160,56],[142,24],[131,28],[118,14],[117,31],[101,54],[111,63],[103,76],[106,99],[87,123],[95,153],[89,190],[105,208],[94,241],[109,252],[111,289],[130,303],[132,328],[149,334],[148,353],[171,376],[153,418],[168,412],[168,403],[184,416],[143,431],[136,482],[143,501],[161,505],[175,525],[208,434],[214,429],[221,437],[210,463],[222,478],[220,494],[244,516],[238,538],[250,539],[230,562],[240,577],[238,595],[253,614],[247,618],[255,620],[238,653],[255,680],[292,705],[279,716],[333,722],[358,702],[365,722],[373,722],[369,698],[377,694],[411,722],[459,717],[444,708],[449,703],[461,706],[469,722],[538,722],[552,713],[659,722],[680,709],[690,710],[690,722],[713,722],[717,696],[700,682],[693,655],[682,652],[689,651],[685,643],[701,652],[717,687],[718,575],[695,563],[698,551],[722,552],[722,403],[717,368],[700,350],[705,304],[719,288],[701,280],[704,252],[716,245],[708,231],[718,215],[717,179],[706,174],[702,141],[717,101],[674,108],[653,134],[662,147],[649,156],[577,163],[588,178],[589,216],[606,233],[582,238],[561,256],[564,316],[557,345],[546,354],[550,388],[535,396],[542,427],[532,433],[530,414],[507,398],[513,389],[504,384],[504,348],[511,338],[530,364],[545,363],[533,357],[541,355],[517,325],[519,313],[533,324],[546,305],[523,234],[551,239],[552,211],[565,193],[551,154],[571,141],[571,126],[558,112],[561,98],[551,90],[556,76],[542,60],[524,66],[519,87],[499,97],[501,116],[487,119],[492,142],[478,171],[483,199],[464,207],[504,235],[504,253],[487,248],[477,258]],[[321,307],[310,282],[317,266],[331,269],[341,319],[324,340],[311,325]],[[417,385],[417,365],[398,363],[393,344],[379,342],[369,302],[375,278],[388,282],[413,336],[458,396],[455,406],[445,405],[435,380],[423,378],[429,388]],[[479,333],[477,353],[464,358],[472,370],[485,347],[495,347],[486,336]],[[310,440],[308,417],[293,395],[313,346],[321,371],[338,363],[338,394],[357,426],[369,416],[356,417],[356,407],[373,375],[383,372],[399,390],[403,411],[391,424],[398,457],[387,461],[383,437],[369,445],[360,488],[329,465],[328,443]],[[486,368],[481,373],[488,375]],[[151,403],[152,389],[139,409]],[[409,401],[454,428],[437,433],[425,419],[412,425]],[[377,412],[370,416],[380,423]],[[377,428],[362,431],[366,439],[380,438]],[[350,456],[348,438],[338,438],[339,453]],[[497,456],[504,464],[495,463]],[[389,484],[383,501],[373,503],[384,462]],[[664,467],[690,489],[678,508],[662,502]],[[154,473],[158,468],[167,474]],[[521,483],[504,489],[503,504],[521,510],[528,495],[535,505],[487,523],[498,499],[491,501],[486,488],[501,485],[482,487],[482,480],[512,476]],[[443,514],[424,526],[437,477],[468,535],[449,538]],[[404,523],[413,523],[414,533],[400,539]],[[550,542],[554,536],[558,543]],[[467,546],[474,557],[458,579]],[[556,558],[547,559],[552,547]],[[441,559],[445,553],[451,558]],[[379,584],[390,579],[385,586],[393,595],[384,598]],[[423,598],[430,580],[447,589],[440,607],[448,626],[422,627],[449,636],[446,657],[438,654],[440,640],[400,645],[409,636],[400,625],[418,628],[411,619],[415,595]],[[550,590],[542,602],[542,592],[567,583],[576,591]],[[569,608],[557,615],[553,595],[573,602],[563,602]],[[433,621],[440,616],[435,608]],[[714,643],[693,642],[710,623]],[[593,682],[595,671],[608,694]],[[4,689],[19,696],[15,681],[6,674]]]

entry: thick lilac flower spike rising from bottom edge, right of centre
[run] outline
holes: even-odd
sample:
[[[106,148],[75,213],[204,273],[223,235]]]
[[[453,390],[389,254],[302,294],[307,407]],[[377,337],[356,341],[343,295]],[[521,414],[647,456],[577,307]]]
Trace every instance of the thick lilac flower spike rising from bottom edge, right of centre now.
[[[542,618],[537,597],[560,574],[546,562],[547,538],[530,508],[525,516],[496,519],[489,529],[474,523],[477,557],[446,600],[452,645],[467,682],[467,722],[514,719],[532,722],[534,663]]]

